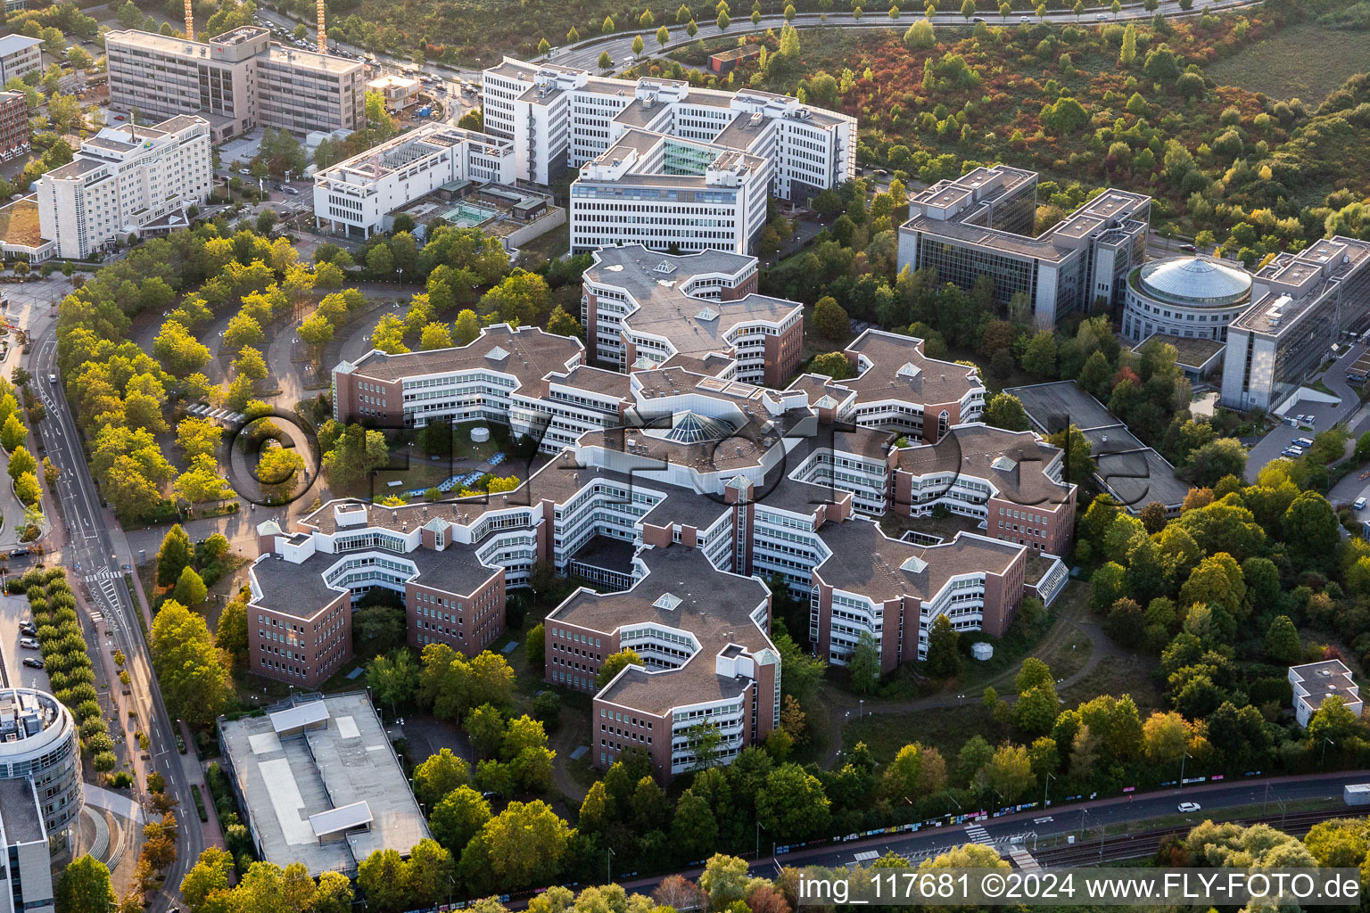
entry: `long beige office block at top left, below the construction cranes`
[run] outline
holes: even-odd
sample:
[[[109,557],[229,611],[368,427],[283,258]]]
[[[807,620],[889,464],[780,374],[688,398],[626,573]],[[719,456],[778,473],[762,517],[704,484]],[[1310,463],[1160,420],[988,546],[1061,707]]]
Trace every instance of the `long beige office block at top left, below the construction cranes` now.
[[[107,33],[104,47],[112,107],[199,114],[215,142],[255,127],[303,134],[366,126],[359,62],[273,44],[260,26],[208,41],[130,29]]]

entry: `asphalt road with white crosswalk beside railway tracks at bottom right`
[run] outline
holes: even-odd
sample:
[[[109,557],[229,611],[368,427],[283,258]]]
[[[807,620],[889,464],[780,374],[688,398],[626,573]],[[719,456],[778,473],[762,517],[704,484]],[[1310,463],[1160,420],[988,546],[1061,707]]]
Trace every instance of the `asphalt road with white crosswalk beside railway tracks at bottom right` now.
[[[964,824],[932,827],[906,835],[881,834],[859,840],[848,840],[836,846],[789,853],[775,853],[775,849],[781,847],[773,847],[766,842],[760,842],[763,856],[752,861],[748,869],[755,877],[774,877],[781,866],[830,868],[847,865],[856,861],[855,857],[858,853],[874,851],[880,856],[896,853],[912,862],[918,862],[919,860],[936,857],[951,847],[966,843],[989,843],[1001,853],[1007,850],[1011,842],[1022,843],[1030,851],[1034,838],[1036,840],[1043,840],[1047,838],[1059,839],[1075,835],[1077,842],[1089,843],[1089,840],[1099,840],[1106,832],[1103,830],[1106,827],[1162,817],[1173,820],[1178,814],[1177,806],[1180,802],[1197,802],[1201,806],[1199,812],[1186,816],[1186,824],[1200,824],[1207,819],[1228,820],[1230,816],[1225,816],[1223,810],[1249,806],[1263,806],[1266,813],[1278,816],[1281,813],[1281,802],[1306,799],[1328,799],[1328,808],[1336,809],[1341,803],[1343,786],[1348,783],[1365,783],[1367,780],[1370,780],[1370,771],[1280,777],[1274,780],[1244,779],[1233,783],[1208,783],[1189,786],[1182,790],[1171,788],[1147,793],[1137,795],[1134,799],[1119,797],[1092,802],[1054,805],[1047,809],[1036,808],[1017,814],[1003,814]],[[1347,814],[1356,813],[1358,809],[1347,809]],[[1274,827],[1278,827],[1278,821]],[[760,838],[764,838],[764,831],[759,832],[759,840]],[[701,869],[689,869],[681,872],[681,875],[697,877],[700,872]],[[621,884],[630,892],[651,894],[663,877],[666,876],[630,879],[622,880]],[[510,906],[526,906],[526,902]]]

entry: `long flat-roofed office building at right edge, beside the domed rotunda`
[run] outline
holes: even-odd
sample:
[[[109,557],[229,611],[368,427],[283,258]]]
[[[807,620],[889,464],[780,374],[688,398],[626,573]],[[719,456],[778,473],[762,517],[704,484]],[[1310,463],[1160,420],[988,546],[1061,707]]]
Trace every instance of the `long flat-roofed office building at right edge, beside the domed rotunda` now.
[[[1256,271],[1251,307],[1228,327],[1221,402],[1274,409],[1341,331],[1370,329],[1370,242],[1323,238]]]

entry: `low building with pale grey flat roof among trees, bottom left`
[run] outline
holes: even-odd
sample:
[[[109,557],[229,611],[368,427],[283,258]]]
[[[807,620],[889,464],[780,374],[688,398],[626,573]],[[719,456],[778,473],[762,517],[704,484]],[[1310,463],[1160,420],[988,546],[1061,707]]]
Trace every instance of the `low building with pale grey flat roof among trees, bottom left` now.
[[[219,719],[219,743],[258,856],[356,875],[375,850],[430,836],[364,691],[297,695],[266,716]]]

